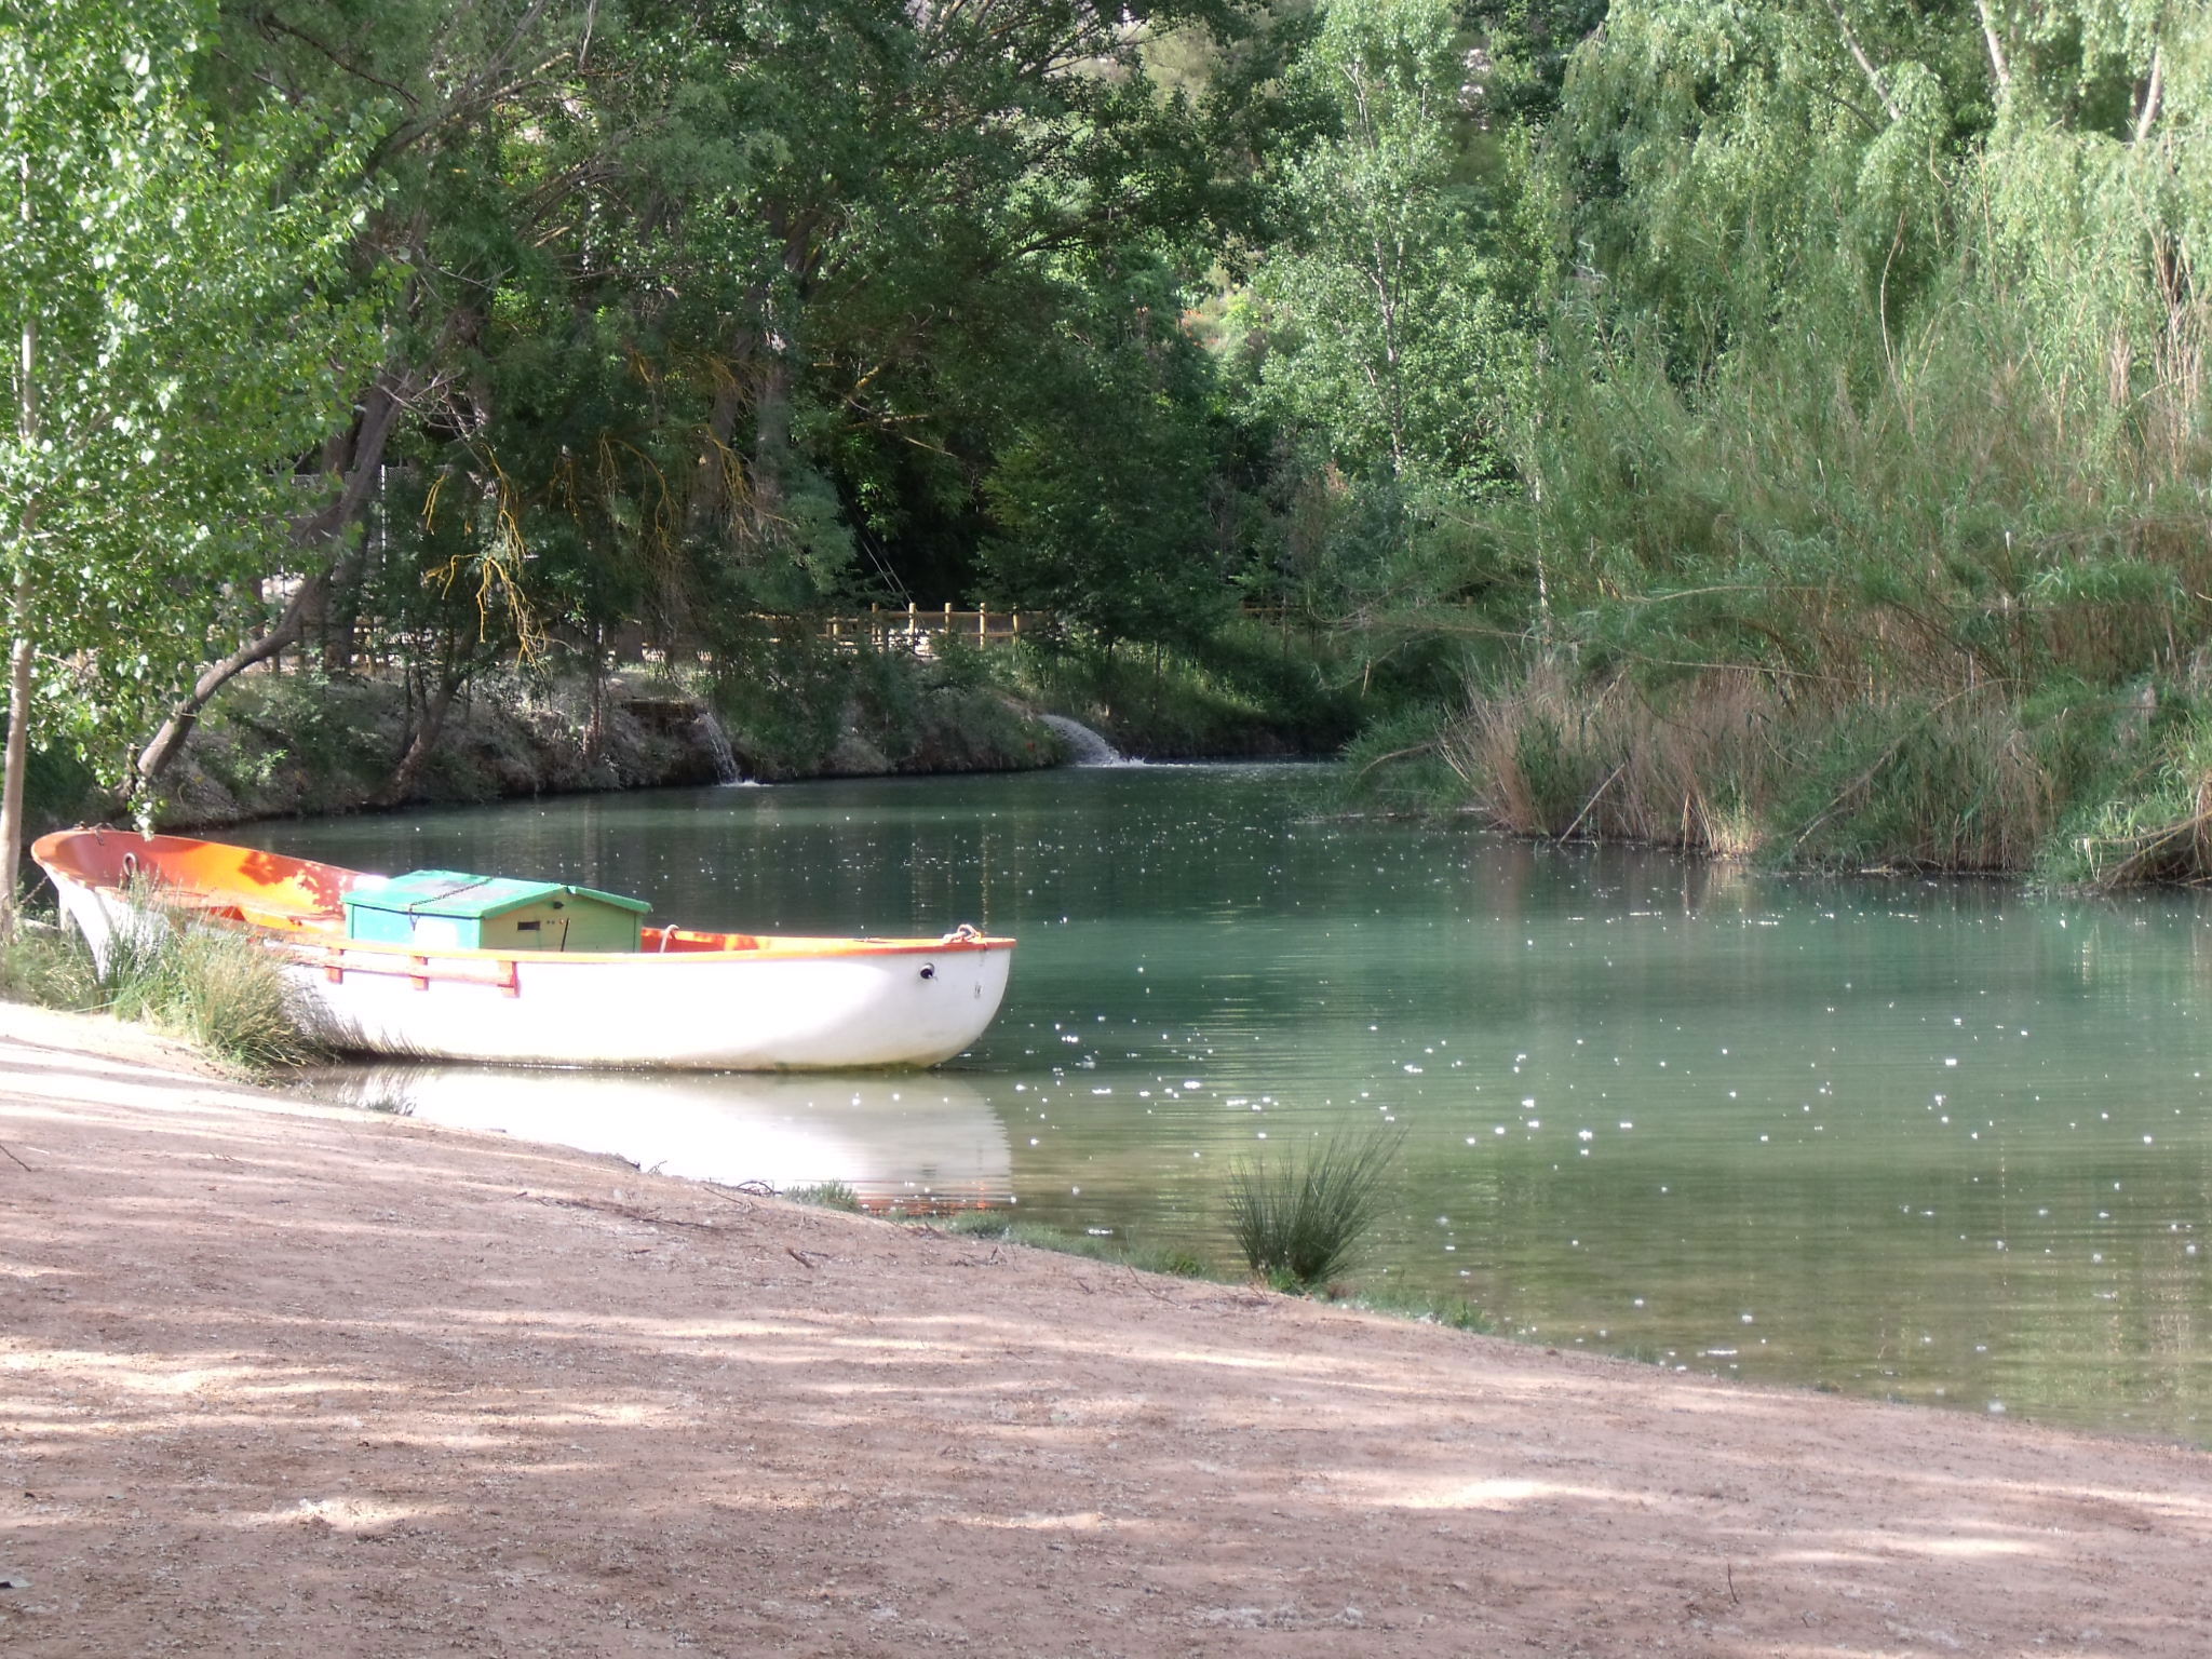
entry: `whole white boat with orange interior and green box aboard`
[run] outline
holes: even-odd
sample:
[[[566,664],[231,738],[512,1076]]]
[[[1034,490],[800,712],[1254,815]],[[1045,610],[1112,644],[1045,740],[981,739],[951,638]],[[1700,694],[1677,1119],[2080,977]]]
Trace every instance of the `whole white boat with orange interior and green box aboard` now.
[[[520,1066],[933,1066],[984,1033],[1013,940],[648,927],[588,887],[372,876],[188,836],[60,830],[31,856],[102,964],[177,920],[248,931],[301,1024],[356,1053]],[[577,945],[577,949],[568,949]],[[613,947],[608,947],[613,945]]]

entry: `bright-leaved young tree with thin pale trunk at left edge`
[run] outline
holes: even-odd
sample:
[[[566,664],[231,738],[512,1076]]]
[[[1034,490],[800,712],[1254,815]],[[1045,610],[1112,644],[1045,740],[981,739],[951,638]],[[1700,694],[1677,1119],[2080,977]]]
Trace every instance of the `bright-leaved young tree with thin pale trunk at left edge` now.
[[[325,135],[261,104],[217,142],[190,91],[208,22],[192,0],[0,0],[0,931],[31,745],[122,774],[367,347],[316,299],[352,219],[301,184]]]

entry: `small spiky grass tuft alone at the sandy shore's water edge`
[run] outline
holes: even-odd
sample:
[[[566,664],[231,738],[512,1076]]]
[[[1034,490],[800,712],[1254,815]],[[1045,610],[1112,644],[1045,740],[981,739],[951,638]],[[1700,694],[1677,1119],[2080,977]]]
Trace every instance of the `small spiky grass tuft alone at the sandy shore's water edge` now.
[[[1230,1237],[1276,1290],[1310,1292],[1349,1267],[1387,1203],[1385,1177],[1405,1133],[1376,1124],[1234,1159]]]

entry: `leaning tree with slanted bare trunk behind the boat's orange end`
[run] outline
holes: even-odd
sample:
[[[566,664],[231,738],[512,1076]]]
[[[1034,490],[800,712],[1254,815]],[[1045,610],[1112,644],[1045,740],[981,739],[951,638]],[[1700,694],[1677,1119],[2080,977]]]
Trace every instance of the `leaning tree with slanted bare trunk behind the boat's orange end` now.
[[[237,675],[312,644],[347,657],[361,622],[367,564],[409,557],[407,526],[385,520],[392,544],[363,529],[394,445],[429,436],[440,462],[458,458],[462,493],[498,498],[500,469],[484,451],[487,334],[500,301],[531,276],[560,270],[562,204],[602,166],[597,111],[582,88],[595,42],[597,0],[217,0],[215,44],[199,69],[219,131],[252,128],[263,100],[279,100],[349,144],[319,166],[330,188],[358,192],[372,210],[354,219],[343,274],[327,294],[376,307],[376,356],[310,465],[312,504],[265,533],[265,604],[243,604],[208,641],[201,670],[168,701],[119,794],[161,781],[190,739],[199,710]],[[615,40],[619,13],[608,9]],[[447,453],[453,449],[456,453]],[[411,460],[422,460],[420,451]],[[504,502],[513,507],[513,502]],[[482,522],[511,529],[513,513]],[[502,591],[513,542],[473,542],[478,591]],[[422,573],[418,573],[422,575]],[[487,617],[489,622],[491,617]]]

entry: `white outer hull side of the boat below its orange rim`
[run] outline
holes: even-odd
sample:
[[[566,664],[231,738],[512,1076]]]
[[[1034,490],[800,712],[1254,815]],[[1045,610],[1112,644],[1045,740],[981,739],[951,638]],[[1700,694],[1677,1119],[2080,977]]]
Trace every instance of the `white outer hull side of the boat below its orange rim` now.
[[[62,909],[106,958],[148,916],[55,876]],[[161,925],[155,920],[155,925]],[[933,1066],[982,1035],[1009,947],[562,958],[276,945],[301,1024],[349,1051],[515,1066],[830,1071]],[[407,973],[425,962],[427,973]]]

